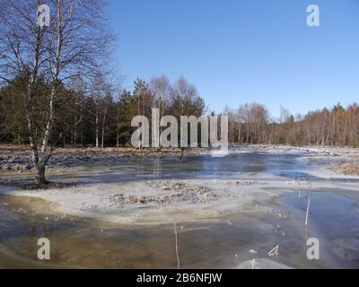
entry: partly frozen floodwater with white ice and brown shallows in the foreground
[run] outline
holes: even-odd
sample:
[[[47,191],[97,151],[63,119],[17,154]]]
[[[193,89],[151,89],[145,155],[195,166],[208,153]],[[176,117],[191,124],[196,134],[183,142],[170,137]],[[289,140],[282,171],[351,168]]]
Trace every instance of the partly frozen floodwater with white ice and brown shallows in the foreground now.
[[[1,187],[0,267],[176,268],[177,234],[180,268],[358,268],[359,178],[321,177],[306,155],[122,159],[50,177],[81,187]],[[166,197],[177,187],[189,190],[182,200]],[[137,194],[144,203],[130,202]],[[46,262],[39,238],[51,243]],[[320,260],[306,257],[309,238]]]

